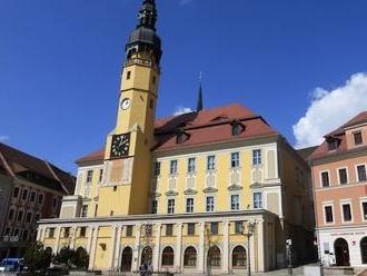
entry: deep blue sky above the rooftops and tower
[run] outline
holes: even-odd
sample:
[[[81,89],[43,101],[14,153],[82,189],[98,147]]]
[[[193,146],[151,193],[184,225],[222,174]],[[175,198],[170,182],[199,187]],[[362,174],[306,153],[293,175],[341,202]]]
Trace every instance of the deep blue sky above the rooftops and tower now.
[[[367,109],[367,1],[157,2],[159,117],[195,108],[199,71],[205,107],[246,105],[292,145],[320,139],[308,139],[315,118],[336,125]],[[72,171],[78,157],[103,146],[140,4],[0,0],[0,140]],[[354,99],[348,112],[333,109],[348,102],[335,95]],[[326,125],[319,132],[335,127]]]

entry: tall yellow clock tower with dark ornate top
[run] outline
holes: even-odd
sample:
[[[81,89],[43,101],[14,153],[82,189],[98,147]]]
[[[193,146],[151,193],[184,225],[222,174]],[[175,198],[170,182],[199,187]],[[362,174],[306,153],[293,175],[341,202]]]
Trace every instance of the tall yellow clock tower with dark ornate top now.
[[[98,216],[147,214],[160,77],[155,0],[143,0],[126,46],[116,128],[107,137]]]

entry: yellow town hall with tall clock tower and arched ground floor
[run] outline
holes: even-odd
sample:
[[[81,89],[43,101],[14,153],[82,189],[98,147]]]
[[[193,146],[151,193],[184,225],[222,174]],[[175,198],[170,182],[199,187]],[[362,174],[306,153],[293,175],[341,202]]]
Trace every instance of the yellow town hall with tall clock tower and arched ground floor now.
[[[266,272],[314,252],[310,169],[241,105],[156,118],[161,40],[143,0],[126,46],[119,109],[106,146],[80,158],[73,196],[39,224],[56,254],[83,247],[89,269],[188,275]],[[169,68],[168,68],[169,69]],[[201,89],[200,89],[201,92]]]

